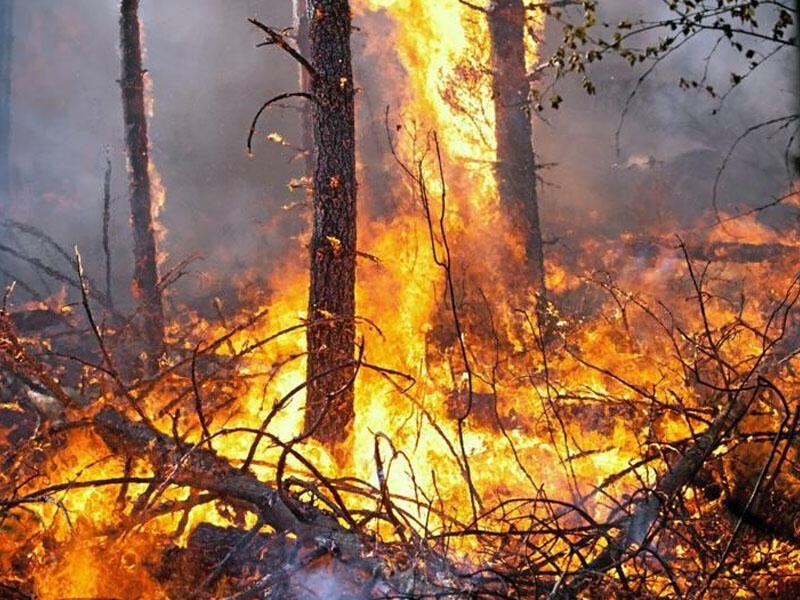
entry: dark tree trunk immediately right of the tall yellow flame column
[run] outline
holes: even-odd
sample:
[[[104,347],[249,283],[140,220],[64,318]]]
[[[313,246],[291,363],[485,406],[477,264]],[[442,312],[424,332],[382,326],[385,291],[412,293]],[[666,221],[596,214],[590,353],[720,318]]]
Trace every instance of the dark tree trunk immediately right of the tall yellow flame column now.
[[[486,11],[491,38],[492,95],[500,202],[525,236],[534,284],[544,291],[544,255],[536,194],[530,84],[525,70],[525,7],[522,0],[496,0]]]

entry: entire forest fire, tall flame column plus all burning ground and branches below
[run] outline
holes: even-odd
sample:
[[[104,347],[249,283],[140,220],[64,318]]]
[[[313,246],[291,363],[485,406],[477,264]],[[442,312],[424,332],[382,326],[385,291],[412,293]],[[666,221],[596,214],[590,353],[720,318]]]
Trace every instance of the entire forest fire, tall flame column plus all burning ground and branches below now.
[[[291,257],[233,314],[167,308],[161,356],[80,255],[54,304],[9,285],[0,597],[800,593],[796,227],[718,211],[531,264],[538,215],[514,212],[487,67],[499,4],[353,5],[367,30],[391,23],[367,51],[393,48],[406,79],[385,113],[393,185],[359,190],[354,382],[327,392],[354,388],[345,442],[307,421],[319,323]],[[544,14],[519,14],[530,73]],[[382,194],[395,209],[376,216]]]

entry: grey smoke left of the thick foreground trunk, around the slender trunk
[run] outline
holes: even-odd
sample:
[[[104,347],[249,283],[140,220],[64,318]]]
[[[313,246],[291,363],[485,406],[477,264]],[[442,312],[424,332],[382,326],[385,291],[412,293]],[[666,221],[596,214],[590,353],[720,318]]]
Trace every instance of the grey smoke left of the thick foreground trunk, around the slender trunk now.
[[[258,17],[291,25],[290,7],[273,0],[141,3],[146,56],[153,82],[151,158],[166,187],[160,217],[171,264],[190,255],[179,290],[214,294],[220,273],[252,272],[259,281],[304,227],[304,199],[287,182],[301,173],[296,152],[267,141],[280,132],[296,143],[297,113],[265,115],[255,156],[245,140],[255,110],[296,85],[296,67],[275,48],[256,48]],[[121,114],[118,3],[96,0],[18,2],[12,76],[12,207],[10,216],[36,225],[66,249],[78,245],[92,273],[102,272],[101,219],[105,156],[112,162],[112,242],[118,295],[127,289],[132,250]],[[19,234],[4,238],[36,247]],[[11,236],[11,239],[9,239]],[[2,257],[6,271],[33,282],[26,266]],[[63,265],[61,265],[63,267]],[[47,293],[49,290],[42,290]]]

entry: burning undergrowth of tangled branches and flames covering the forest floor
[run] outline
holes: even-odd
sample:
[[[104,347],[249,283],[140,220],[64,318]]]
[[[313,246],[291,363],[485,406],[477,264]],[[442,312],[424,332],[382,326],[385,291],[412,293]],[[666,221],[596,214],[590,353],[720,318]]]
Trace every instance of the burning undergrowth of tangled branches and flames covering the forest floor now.
[[[794,593],[800,284],[775,277],[791,254],[768,271],[596,243],[547,309],[473,283],[430,289],[414,341],[363,320],[336,456],[302,433],[300,295],[225,324],[187,312],[151,378],[116,366],[135,363],[130,335],[88,300],[43,334],[7,299],[4,593]],[[467,281],[456,259],[437,269]]]

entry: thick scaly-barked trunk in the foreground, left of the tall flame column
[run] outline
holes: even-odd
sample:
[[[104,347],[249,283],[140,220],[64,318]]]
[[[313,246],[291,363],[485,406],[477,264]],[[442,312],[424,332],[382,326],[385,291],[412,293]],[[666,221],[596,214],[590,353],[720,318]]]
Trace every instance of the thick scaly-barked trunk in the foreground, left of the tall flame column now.
[[[350,6],[310,0],[314,196],[305,430],[344,441],[353,420],[356,182]]]

